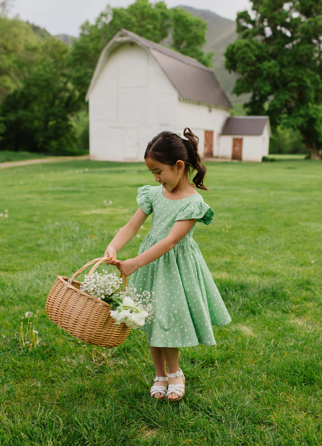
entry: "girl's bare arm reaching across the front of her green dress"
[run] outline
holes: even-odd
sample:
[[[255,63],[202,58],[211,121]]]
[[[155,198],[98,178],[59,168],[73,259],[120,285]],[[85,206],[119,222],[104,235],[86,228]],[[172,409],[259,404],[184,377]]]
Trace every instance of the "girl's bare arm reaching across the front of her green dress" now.
[[[139,256],[133,259],[116,260],[115,265],[123,273],[124,276],[130,276],[138,268],[144,266],[153,260],[157,260],[159,257],[163,256],[166,252],[170,251],[177,243],[182,240],[182,238],[190,231],[194,226],[197,219],[190,220],[179,220],[174,223],[173,227],[169,231],[169,234],[163,239],[157,242],[151,248],[142,252]]]

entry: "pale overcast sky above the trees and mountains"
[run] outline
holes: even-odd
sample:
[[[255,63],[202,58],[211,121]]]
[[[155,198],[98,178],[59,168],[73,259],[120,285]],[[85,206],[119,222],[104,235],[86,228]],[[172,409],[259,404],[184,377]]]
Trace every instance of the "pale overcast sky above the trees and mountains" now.
[[[126,7],[134,0],[11,0],[10,16],[19,14],[47,29],[50,34],[78,36],[79,26],[94,21],[107,4]],[[198,9],[213,11],[219,16],[235,20],[238,11],[248,9],[248,0],[165,0],[168,8],[184,4]]]

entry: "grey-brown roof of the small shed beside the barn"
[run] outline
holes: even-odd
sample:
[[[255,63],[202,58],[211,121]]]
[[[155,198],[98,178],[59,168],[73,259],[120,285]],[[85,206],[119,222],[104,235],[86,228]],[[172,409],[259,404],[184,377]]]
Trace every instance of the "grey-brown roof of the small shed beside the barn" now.
[[[223,124],[222,135],[261,135],[268,116],[233,116]],[[269,125],[269,124],[268,124]],[[270,130],[269,130],[270,131]]]

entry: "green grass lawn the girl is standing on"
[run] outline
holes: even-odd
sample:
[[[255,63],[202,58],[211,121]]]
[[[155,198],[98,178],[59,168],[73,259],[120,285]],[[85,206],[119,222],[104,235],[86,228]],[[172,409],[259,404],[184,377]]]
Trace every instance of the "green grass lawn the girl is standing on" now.
[[[194,239],[232,322],[214,327],[215,347],[181,349],[178,403],[149,396],[143,332],[97,365],[44,309],[57,274],[103,255],[136,211],[137,188],[154,184],[146,167],[71,161],[1,171],[1,445],[322,444],[322,163],[208,168],[201,193],[215,219],[198,223]],[[120,259],[136,255],[150,221]],[[37,309],[41,342],[21,350],[21,316]]]

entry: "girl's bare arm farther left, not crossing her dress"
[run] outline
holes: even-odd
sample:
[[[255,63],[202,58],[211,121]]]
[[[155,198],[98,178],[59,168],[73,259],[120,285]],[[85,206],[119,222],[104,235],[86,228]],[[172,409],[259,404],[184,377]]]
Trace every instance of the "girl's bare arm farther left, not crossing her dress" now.
[[[107,260],[105,262],[107,265],[117,264],[116,252],[120,251],[121,248],[123,248],[126,244],[128,244],[130,240],[132,240],[134,235],[136,235],[136,232],[140,229],[147,218],[148,215],[144,214],[142,209],[139,207],[139,209],[133,215],[132,219],[129,220],[129,222],[120,229],[113,240],[111,240],[111,242],[108,244],[104,253],[104,257],[111,257],[114,260]]]

